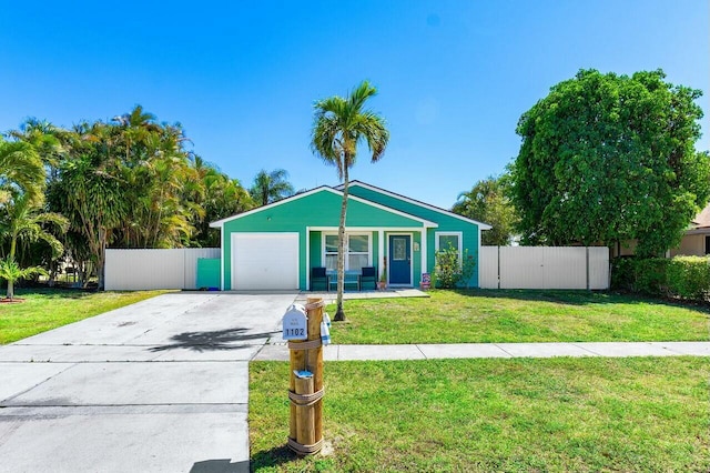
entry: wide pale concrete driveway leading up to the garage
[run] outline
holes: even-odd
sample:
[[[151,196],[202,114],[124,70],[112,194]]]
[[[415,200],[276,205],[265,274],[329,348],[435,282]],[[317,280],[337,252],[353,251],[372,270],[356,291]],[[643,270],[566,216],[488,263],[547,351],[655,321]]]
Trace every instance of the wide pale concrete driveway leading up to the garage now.
[[[0,472],[248,471],[247,363],[296,295],[164,294],[0,346]]]

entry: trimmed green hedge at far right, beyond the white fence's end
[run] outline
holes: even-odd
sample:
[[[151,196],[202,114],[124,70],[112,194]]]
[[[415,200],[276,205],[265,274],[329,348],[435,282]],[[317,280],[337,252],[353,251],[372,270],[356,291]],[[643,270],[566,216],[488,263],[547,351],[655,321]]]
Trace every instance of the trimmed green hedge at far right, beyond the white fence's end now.
[[[707,301],[710,296],[707,256],[617,258],[612,265],[613,289],[694,301]]]

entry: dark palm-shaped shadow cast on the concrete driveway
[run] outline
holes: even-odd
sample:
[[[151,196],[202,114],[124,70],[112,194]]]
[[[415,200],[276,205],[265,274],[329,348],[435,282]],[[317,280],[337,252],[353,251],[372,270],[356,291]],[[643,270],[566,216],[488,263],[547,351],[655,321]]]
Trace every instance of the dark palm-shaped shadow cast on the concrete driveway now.
[[[267,339],[275,333],[280,332],[262,332],[262,333],[246,333],[248,329],[235,328],[216,330],[212,332],[183,332],[178,335],[171,336],[171,340],[175,343],[168,345],[153,346],[150,349],[152,352],[162,352],[166,350],[175,349],[189,349],[196,352],[204,351],[217,351],[217,350],[241,350],[250,348],[247,342],[250,340]]]

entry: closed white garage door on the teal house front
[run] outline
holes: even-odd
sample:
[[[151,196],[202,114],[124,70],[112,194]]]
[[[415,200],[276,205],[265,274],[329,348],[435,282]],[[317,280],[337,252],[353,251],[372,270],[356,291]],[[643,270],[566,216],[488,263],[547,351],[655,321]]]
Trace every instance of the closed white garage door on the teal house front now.
[[[232,233],[232,289],[298,289],[298,233]]]

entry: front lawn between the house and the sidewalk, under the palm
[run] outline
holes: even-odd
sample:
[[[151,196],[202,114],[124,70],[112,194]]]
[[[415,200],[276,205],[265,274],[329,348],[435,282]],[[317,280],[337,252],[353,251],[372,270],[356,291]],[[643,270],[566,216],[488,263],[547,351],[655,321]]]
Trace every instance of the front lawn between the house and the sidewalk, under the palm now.
[[[707,306],[587,291],[438,290],[429,299],[345,301],[345,314],[333,343],[710,340]]]

